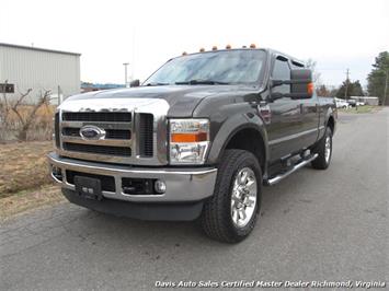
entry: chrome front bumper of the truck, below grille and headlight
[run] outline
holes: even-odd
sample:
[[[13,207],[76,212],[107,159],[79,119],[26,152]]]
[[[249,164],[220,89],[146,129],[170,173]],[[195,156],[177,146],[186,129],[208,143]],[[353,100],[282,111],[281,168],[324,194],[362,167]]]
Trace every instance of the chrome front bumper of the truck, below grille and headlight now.
[[[133,202],[191,202],[205,199],[213,195],[217,168],[149,168],[138,166],[112,165],[61,158],[52,152],[47,155],[52,178],[62,188],[75,190],[66,178],[66,171],[112,176],[115,179],[115,191],[103,191],[110,199]],[[53,175],[53,166],[59,167],[62,181]],[[122,190],[122,178],[152,178],[161,179],[167,185],[162,195],[128,195]]]

